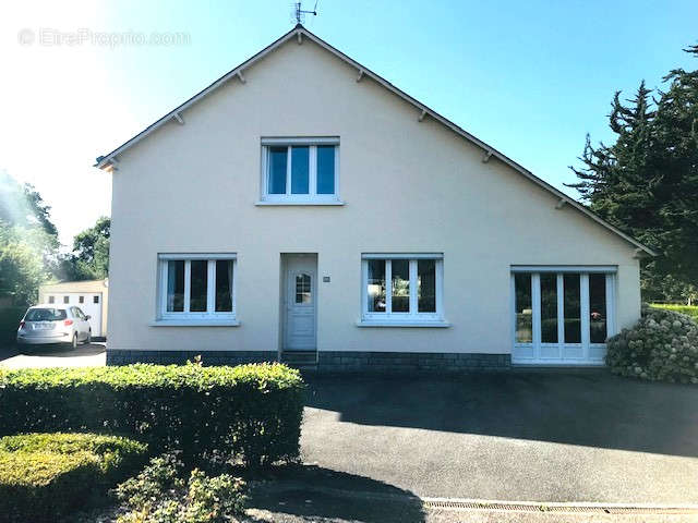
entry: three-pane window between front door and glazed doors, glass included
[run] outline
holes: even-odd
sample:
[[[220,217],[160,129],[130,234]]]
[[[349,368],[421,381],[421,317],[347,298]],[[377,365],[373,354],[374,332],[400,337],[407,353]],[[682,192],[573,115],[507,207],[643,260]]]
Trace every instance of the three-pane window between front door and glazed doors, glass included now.
[[[443,255],[364,254],[362,319],[443,319]]]

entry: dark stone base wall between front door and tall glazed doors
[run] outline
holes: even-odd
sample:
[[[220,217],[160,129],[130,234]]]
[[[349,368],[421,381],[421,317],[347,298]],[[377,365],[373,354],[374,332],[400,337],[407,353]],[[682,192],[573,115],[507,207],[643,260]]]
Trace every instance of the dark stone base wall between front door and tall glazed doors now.
[[[317,370],[346,372],[491,372],[512,366],[510,354],[431,352],[318,352]]]

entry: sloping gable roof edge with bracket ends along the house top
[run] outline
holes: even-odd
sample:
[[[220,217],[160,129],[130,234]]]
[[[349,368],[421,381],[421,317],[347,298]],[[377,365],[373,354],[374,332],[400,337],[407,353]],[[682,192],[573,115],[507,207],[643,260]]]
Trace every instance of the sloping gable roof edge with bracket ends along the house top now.
[[[287,41],[291,40],[292,38],[297,38],[299,44],[302,42],[303,38],[308,38],[309,40],[313,41],[314,44],[316,44],[320,47],[324,48],[325,50],[329,51],[330,53],[333,53],[334,56],[336,56],[340,60],[342,60],[346,63],[350,64],[351,66],[356,68],[357,69],[357,75],[358,75],[357,76],[357,81],[360,81],[363,76],[366,76],[366,77],[373,80],[374,82],[381,84],[383,87],[385,87],[386,89],[388,89],[393,94],[399,96],[400,98],[402,98],[407,102],[411,104],[419,111],[421,111],[420,114],[419,114],[420,121],[422,119],[424,119],[426,115],[429,115],[430,118],[433,118],[437,122],[442,123],[446,127],[448,127],[452,131],[454,131],[456,134],[462,136],[464,138],[469,141],[470,143],[477,145],[478,147],[480,147],[483,150],[483,155],[484,155],[483,156],[483,161],[488,161],[491,157],[494,157],[494,158],[498,159],[500,161],[506,163],[507,166],[509,166],[510,168],[513,168],[514,170],[516,170],[517,172],[519,172],[524,177],[528,178],[531,182],[533,182],[537,185],[543,187],[544,190],[546,190],[547,192],[552,193],[557,198],[559,198],[558,203],[557,203],[557,207],[558,208],[564,206],[564,205],[569,205],[569,206],[574,207],[575,209],[577,209],[578,211],[580,211],[582,215],[587,216],[588,218],[590,218],[593,221],[600,223],[601,226],[603,226],[604,228],[609,229],[613,233],[615,233],[618,236],[623,238],[628,243],[635,245],[635,247],[637,247],[636,252],[637,252],[638,255],[640,253],[646,253],[646,254],[649,254],[650,256],[657,256],[657,253],[654,251],[652,251],[650,247],[648,247],[647,245],[643,245],[642,243],[638,242],[637,240],[635,240],[630,235],[628,235],[625,232],[621,231],[615,226],[612,226],[611,223],[609,223],[607,221],[605,221],[601,217],[597,216],[590,209],[588,209],[585,205],[580,204],[579,202],[577,202],[576,199],[571,198],[570,196],[567,196],[565,193],[563,193],[562,191],[555,188],[554,186],[552,186],[551,184],[549,184],[544,180],[538,178],[531,171],[529,171],[528,169],[524,168],[522,166],[520,166],[516,161],[512,160],[509,157],[505,156],[504,154],[500,153],[497,149],[495,149],[491,145],[485,144],[484,142],[482,142],[478,137],[476,137],[472,134],[468,133],[465,129],[462,129],[459,125],[455,124],[454,122],[452,122],[447,118],[441,115],[440,113],[437,113],[433,109],[430,109],[429,107],[426,107],[424,104],[420,102],[419,100],[412,98],[410,95],[408,95],[407,93],[402,92],[401,89],[399,89],[398,87],[393,85],[387,80],[383,78],[382,76],[380,76],[378,74],[374,73],[373,71],[371,71],[368,68],[365,68],[364,65],[360,64],[359,62],[352,60],[351,58],[346,56],[344,52],[339,51],[338,49],[336,49],[333,46],[330,46],[329,44],[327,44],[322,38],[315,36],[313,33],[311,33],[305,27],[303,27],[301,24],[298,24],[296,27],[293,27],[291,31],[286,33],[280,38],[278,38],[276,41],[272,42],[270,45],[268,45],[267,47],[262,49],[260,52],[254,54],[252,58],[245,60],[240,65],[238,65],[237,68],[231,70],[230,72],[226,73],[220,78],[216,80],[208,87],[204,88],[203,90],[201,90],[197,94],[195,94],[194,96],[192,96],[189,100],[184,101],[182,105],[180,105],[179,107],[174,108],[172,111],[168,112],[163,118],[160,118],[156,122],[154,122],[151,125],[148,125],[147,127],[145,127],[139,134],[133,136],[128,142],[124,142],[123,144],[121,144],[119,147],[113,149],[111,153],[108,153],[105,156],[98,157],[94,167],[96,167],[98,169],[109,169],[109,168],[113,169],[116,167],[116,163],[118,163],[118,160],[116,158],[118,155],[120,155],[121,153],[125,151],[127,149],[129,149],[130,147],[132,147],[133,145],[139,143],[141,139],[143,139],[146,136],[148,136],[151,133],[155,132],[157,129],[159,129],[160,126],[163,126],[164,124],[166,124],[170,120],[176,120],[176,121],[182,123],[183,120],[182,120],[181,114],[180,114],[182,111],[184,111],[189,107],[193,106],[198,100],[201,100],[202,98],[206,97],[207,95],[209,95],[210,93],[216,90],[218,87],[225,85],[227,82],[229,82],[231,80],[234,80],[234,78],[238,78],[240,82],[244,83],[245,80],[244,80],[243,72],[244,72],[245,69],[250,68],[251,65],[253,65],[254,63],[256,63],[257,61],[263,59],[266,54],[275,51],[277,48],[282,46]]]

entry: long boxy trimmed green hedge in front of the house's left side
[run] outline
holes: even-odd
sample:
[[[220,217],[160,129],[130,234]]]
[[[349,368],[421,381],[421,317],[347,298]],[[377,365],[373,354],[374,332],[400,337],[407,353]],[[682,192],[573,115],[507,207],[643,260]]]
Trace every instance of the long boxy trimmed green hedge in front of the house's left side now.
[[[279,364],[37,368],[0,381],[2,434],[122,434],[188,463],[214,451],[249,465],[299,455],[303,381]]]

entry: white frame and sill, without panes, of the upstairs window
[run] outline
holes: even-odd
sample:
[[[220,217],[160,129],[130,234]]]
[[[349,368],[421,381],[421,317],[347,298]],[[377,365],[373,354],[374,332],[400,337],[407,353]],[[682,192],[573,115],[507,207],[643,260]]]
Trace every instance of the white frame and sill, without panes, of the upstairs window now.
[[[333,145],[335,147],[335,192],[334,194],[317,194],[317,146]],[[291,194],[291,147],[309,147],[309,193]],[[269,194],[268,167],[269,148],[286,147],[286,194]],[[262,192],[261,203],[267,204],[320,204],[337,205],[339,199],[339,138],[337,137],[303,137],[303,138],[262,138]]]

